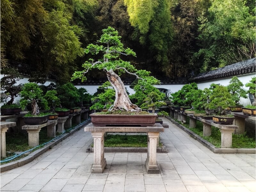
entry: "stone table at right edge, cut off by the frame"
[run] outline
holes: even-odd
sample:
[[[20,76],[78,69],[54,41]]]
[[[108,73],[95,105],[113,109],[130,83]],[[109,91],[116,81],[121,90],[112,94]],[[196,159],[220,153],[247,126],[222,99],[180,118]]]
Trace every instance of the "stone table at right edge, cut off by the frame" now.
[[[255,116],[244,115],[243,112],[229,112],[226,111],[227,114],[235,116],[233,120],[233,125],[238,126],[238,129],[235,130],[235,134],[243,134],[245,127],[245,119],[250,119],[252,121],[256,121]]]

